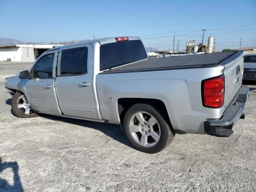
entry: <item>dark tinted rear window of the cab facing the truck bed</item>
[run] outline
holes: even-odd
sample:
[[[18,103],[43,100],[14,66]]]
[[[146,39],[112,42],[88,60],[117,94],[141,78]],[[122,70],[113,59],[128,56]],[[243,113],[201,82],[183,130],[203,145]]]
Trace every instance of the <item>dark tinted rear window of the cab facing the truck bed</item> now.
[[[128,40],[100,46],[100,70],[148,58],[141,40]]]

